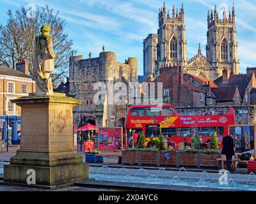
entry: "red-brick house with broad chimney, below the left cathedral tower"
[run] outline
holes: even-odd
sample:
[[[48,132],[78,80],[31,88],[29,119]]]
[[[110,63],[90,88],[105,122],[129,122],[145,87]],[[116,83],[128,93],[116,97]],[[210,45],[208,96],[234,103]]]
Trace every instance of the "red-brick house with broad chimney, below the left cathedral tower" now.
[[[212,94],[211,85],[216,85],[212,80],[202,83],[200,77],[184,74],[183,66],[161,68],[159,77],[152,82],[163,83],[163,103],[178,106],[207,106],[215,105],[216,97]],[[156,89],[157,96],[157,89]]]

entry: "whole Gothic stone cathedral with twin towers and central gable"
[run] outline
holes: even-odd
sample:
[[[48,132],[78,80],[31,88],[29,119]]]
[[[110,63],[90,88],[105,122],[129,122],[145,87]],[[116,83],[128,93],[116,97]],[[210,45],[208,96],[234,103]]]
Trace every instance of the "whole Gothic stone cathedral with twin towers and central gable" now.
[[[182,64],[184,73],[216,80],[223,68],[239,73],[237,56],[235,10],[223,11],[223,18],[215,6],[207,15],[206,57],[199,43],[198,53],[188,60],[184,6],[172,13],[166,11],[165,3],[159,8],[159,28],[157,34],[149,34],[143,41],[143,71],[145,77],[158,77],[159,69]]]

